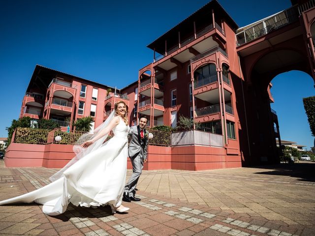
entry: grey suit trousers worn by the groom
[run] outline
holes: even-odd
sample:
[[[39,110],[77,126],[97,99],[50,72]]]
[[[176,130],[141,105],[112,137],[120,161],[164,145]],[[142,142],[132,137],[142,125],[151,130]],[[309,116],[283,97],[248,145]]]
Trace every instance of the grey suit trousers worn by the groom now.
[[[135,156],[131,157],[131,163],[132,163],[132,175],[130,176],[126,186],[125,186],[125,193],[128,193],[129,197],[134,196],[135,194],[135,188],[137,186],[139,177],[142,173],[142,168],[143,168],[143,160],[142,160],[142,153],[140,153]]]

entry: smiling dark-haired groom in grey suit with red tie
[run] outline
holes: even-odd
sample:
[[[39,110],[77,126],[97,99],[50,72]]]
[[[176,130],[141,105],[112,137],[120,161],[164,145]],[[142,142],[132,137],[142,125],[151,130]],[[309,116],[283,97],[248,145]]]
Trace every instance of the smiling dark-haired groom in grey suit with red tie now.
[[[141,116],[139,125],[130,127],[128,132],[129,148],[128,154],[132,163],[132,175],[129,178],[125,190],[123,201],[140,201],[140,198],[136,198],[135,188],[137,182],[142,173],[143,163],[147,162],[148,155],[148,133],[145,129],[148,122],[148,118]]]

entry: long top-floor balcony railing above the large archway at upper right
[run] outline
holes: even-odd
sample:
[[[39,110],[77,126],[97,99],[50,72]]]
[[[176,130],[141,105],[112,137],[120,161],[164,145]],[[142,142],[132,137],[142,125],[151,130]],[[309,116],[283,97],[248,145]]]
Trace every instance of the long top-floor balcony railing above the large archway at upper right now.
[[[278,18],[278,19],[277,19]],[[268,22],[270,21],[276,21],[273,24],[270,24]],[[250,28],[244,29],[243,31],[237,33],[236,38],[236,46],[239,47],[245,43],[251,42],[269,32],[272,32],[276,29],[280,29],[281,27],[284,27],[290,23],[298,21],[298,14],[295,7],[291,7],[287,10],[284,10],[280,12],[277,15],[270,16],[269,18],[266,18],[264,20],[261,20],[259,23],[253,25]],[[263,26],[263,27],[261,27]],[[259,30],[255,30],[259,29]],[[249,33],[248,32],[252,32]]]

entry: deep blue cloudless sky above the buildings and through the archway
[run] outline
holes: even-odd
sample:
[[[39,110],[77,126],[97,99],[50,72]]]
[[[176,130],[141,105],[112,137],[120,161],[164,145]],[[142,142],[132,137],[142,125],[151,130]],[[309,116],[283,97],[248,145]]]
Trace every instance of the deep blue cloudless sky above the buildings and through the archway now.
[[[153,60],[146,45],[208,0],[2,0],[0,7],[0,137],[20,113],[33,69],[40,64],[117,88],[137,80]],[[240,26],[291,6],[290,0],[219,0]],[[298,80],[299,87],[296,87]],[[302,97],[314,96],[303,72],[278,75],[272,93],[284,140],[313,146]]]

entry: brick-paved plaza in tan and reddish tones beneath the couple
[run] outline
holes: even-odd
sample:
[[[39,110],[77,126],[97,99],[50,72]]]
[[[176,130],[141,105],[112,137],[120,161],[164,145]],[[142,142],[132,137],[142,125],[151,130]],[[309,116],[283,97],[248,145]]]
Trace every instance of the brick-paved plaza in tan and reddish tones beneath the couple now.
[[[5,168],[0,200],[40,188],[57,169]],[[128,170],[127,177],[131,171]],[[70,205],[60,216],[37,204],[0,206],[0,235],[39,236],[314,236],[315,163],[211,171],[143,171],[141,202]]]

